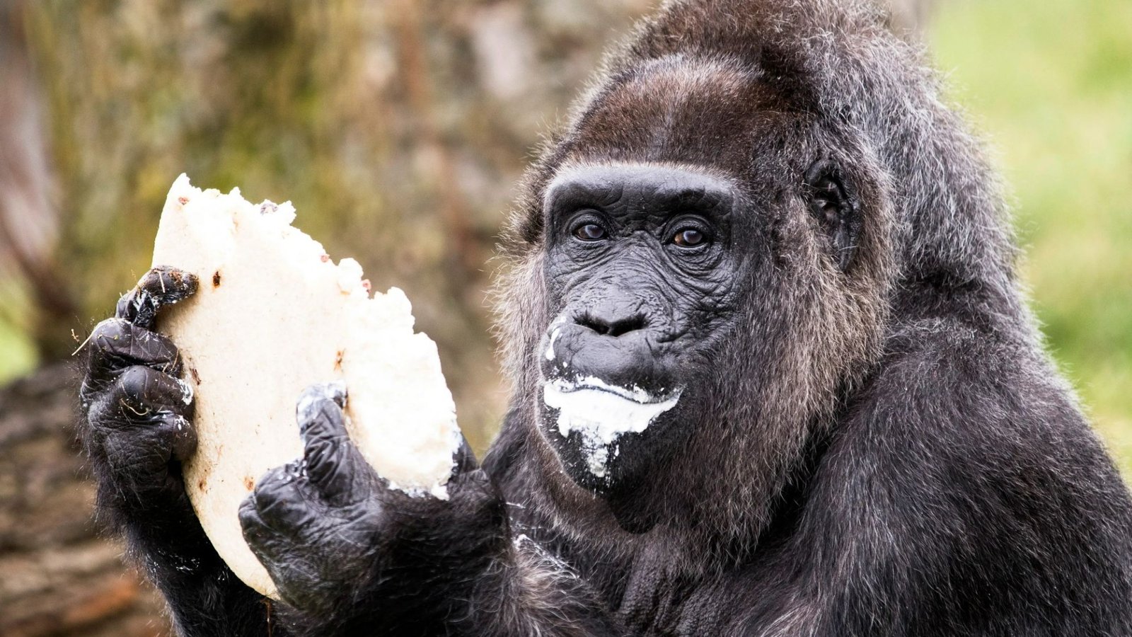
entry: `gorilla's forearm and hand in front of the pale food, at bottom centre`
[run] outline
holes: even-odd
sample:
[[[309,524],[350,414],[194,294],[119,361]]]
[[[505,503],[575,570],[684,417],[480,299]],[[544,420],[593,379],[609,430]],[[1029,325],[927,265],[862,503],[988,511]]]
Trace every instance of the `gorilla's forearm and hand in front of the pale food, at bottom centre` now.
[[[302,635],[620,635],[585,584],[514,536],[466,443],[448,498],[389,489],[350,442],[333,385],[299,400],[305,453],[240,508]]]

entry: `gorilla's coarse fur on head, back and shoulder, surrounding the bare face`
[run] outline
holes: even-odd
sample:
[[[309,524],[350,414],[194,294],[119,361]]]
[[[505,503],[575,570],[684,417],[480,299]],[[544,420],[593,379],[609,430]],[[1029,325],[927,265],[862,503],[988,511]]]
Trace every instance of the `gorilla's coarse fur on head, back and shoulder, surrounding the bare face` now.
[[[631,632],[1132,632],[1126,490],[1041,348],[995,176],[920,56],[866,2],[669,2],[529,169],[498,287],[516,391],[486,466]],[[727,112],[732,95],[751,110]],[[748,299],[778,297],[772,320],[717,360],[714,428],[635,494],[664,521],[621,530],[529,424],[552,315],[546,185],[582,156],[784,188],[791,159],[830,148],[867,185],[852,269],[816,261],[797,220],[774,229],[782,287]]]

